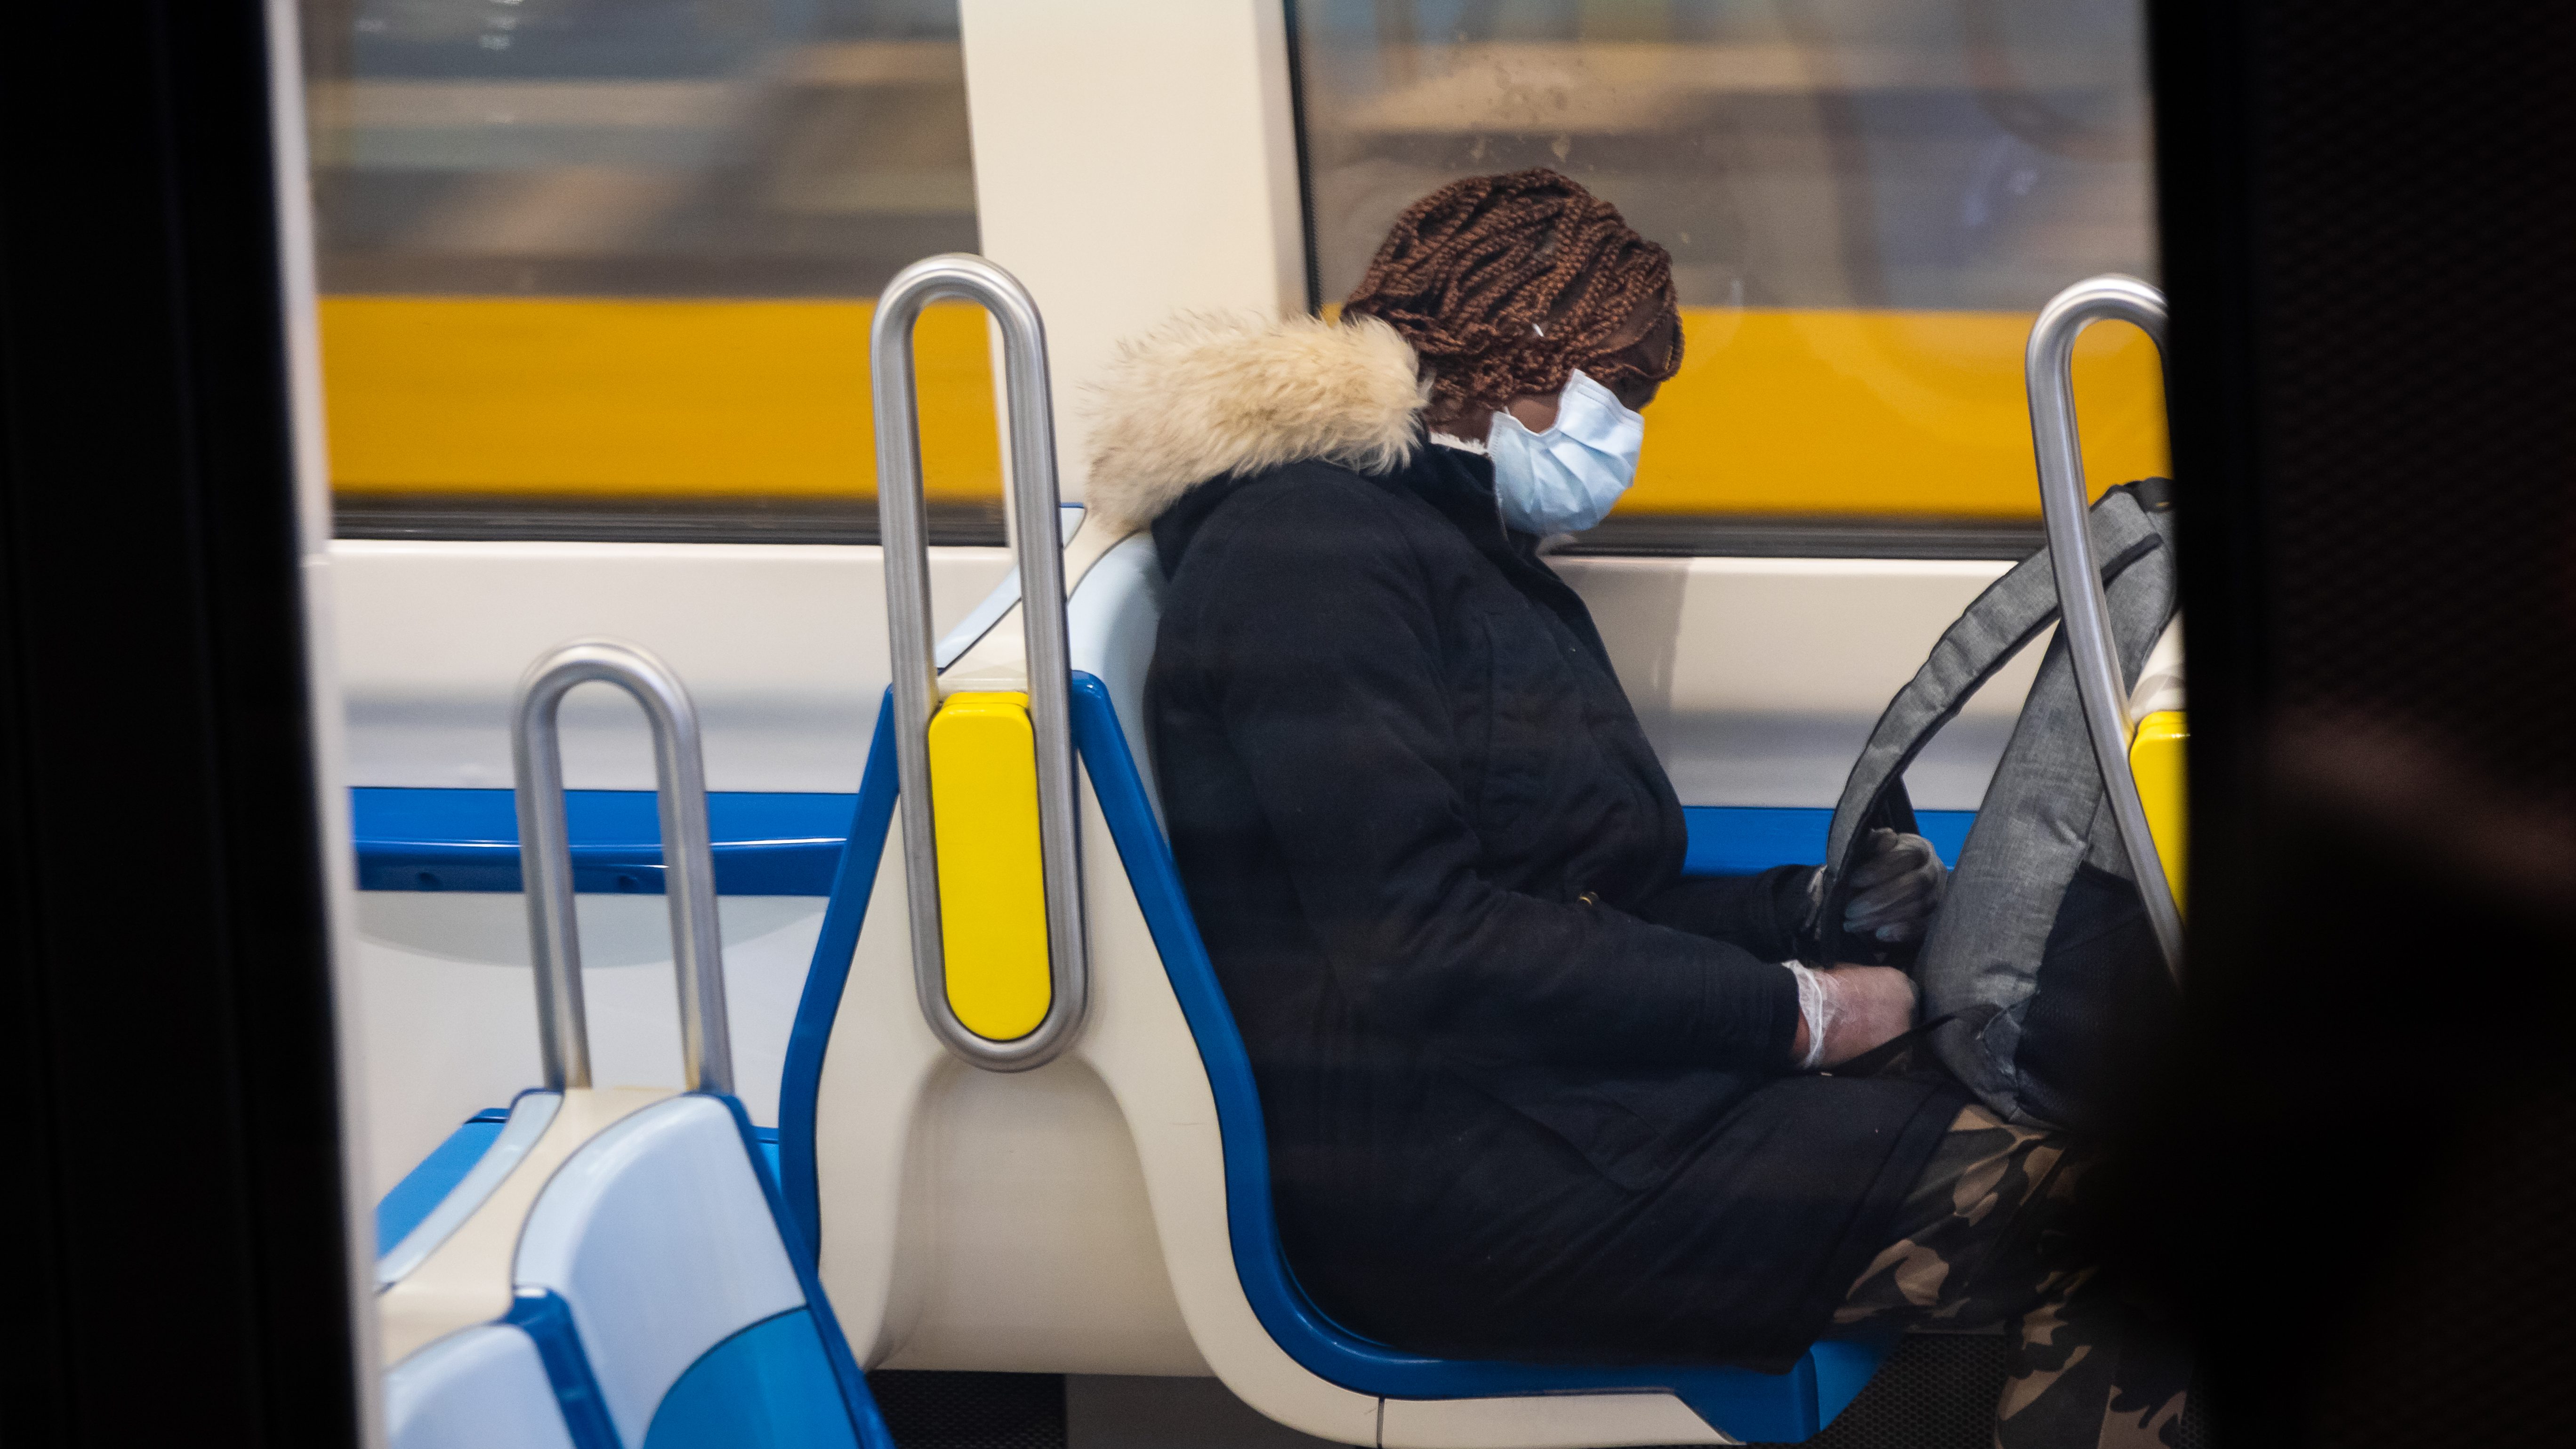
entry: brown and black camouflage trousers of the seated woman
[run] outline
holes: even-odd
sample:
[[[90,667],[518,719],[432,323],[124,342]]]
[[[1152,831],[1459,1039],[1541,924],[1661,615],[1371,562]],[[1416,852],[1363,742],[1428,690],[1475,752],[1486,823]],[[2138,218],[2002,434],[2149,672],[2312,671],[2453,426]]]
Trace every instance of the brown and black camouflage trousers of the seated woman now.
[[[2089,1165],[2063,1134],[1971,1104],[1834,1325],[2014,1330],[1996,1449],[2177,1444],[2187,1356],[2099,1281],[2069,1232]]]

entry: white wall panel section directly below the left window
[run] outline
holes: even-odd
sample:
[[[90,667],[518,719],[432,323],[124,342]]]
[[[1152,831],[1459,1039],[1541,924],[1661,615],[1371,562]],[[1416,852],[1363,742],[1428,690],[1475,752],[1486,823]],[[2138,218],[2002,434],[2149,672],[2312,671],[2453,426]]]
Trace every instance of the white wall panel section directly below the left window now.
[[[933,549],[948,629],[1010,570]],[[886,691],[886,575],[840,544],[332,544],[348,784],[510,786],[528,660],[582,634],[662,655],[706,730],[708,789],[853,792]],[[652,789],[644,714],[608,686],[564,699],[564,784]]]

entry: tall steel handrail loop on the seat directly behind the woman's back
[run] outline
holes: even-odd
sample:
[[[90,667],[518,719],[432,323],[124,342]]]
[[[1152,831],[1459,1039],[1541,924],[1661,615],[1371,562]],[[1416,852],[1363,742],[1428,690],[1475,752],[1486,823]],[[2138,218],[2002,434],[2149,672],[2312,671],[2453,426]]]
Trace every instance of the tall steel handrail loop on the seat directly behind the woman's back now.
[[[1020,557],[1020,629],[1028,647],[1028,722],[1038,737],[1038,859],[1046,871],[1046,954],[1054,985],[1028,1036],[989,1042],[948,1006],[940,938],[940,866],[930,822],[930,714],[940,704],[930,637],[930,536],[922,516],[922,446],[912,389],[912,322],[943,297],[981,304],[1002,333],[1002,407],[1010,418],[1010,539]],[[876,376],[876,516],[886,547],[886,632],[894,660],[894,763],[904,820],[904,895],[912,908],[912,990],[951,1052],[994,1073],[1051,1062],[1090,1011],[1082,931],[1082,856],[1074,830],[1072,650],[1064,642],[1064,552],[1056,547],[1056,420],[1046,384],[1046,325],[1015,276],[979,255],[922,258],[894,273],[868,330]],[[1048,606],[1041,608],[1038,603]]]

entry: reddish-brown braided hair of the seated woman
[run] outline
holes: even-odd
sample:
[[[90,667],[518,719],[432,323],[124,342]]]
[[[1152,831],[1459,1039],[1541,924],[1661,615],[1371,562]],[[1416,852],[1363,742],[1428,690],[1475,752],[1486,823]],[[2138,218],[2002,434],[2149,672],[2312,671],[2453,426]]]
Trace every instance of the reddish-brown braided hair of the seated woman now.
[[[1471,175],[1406,206],[1342,309],[1422,353],[1435,420],[1558,392],[1574,369],[1602,387],[1682,369],[1680,327],[1664,358],[1620,340],[1641,312],[1677,315],[1672,253],[1548,168]]]

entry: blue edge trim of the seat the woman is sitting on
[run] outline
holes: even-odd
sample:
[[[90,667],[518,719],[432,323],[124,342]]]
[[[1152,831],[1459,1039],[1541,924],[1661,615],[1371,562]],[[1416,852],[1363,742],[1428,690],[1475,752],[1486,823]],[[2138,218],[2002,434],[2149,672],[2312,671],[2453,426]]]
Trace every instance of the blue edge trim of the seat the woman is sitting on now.
[[[1788,1374],[1757,1374],[1731,1366],[1659,1366],[1659,1369],[1595,1369],[1595,1366],[1540,1366],[1497,1364],[1466,1359],[1425,1359],[1370,1343],[1332,1323],[1296,1284],[1280,1253],[1278,1222],[1270,1207],[1270,1152],[1262,1129],[1262,1106],[1252,1085],[1252,1060],[1234,1013],[1216,982],[1206,944],[1190,918],[1190,902],[1180,887],[1180,869],[1154,825],[1136,761],[1128,758],[1126,735],[1118,730],[1118,712],[1108,688],[1074,673],[1074,748],[1090,768],[1092,792],[1100,797],[1100,815],[1118,843],[1118,856],[1128,869],[1136,902],[1144,908],[1146,928],[1162,951],[1180,998],[1190,1034],[1198,1039],[1200,1062],[1216,1091],[1216,1119],[1226,1155],[1226,1225],[1234,1240],[1234,1271],[1252,1299],[1252,1312],[1270,1330],[1270,1338],[1303,1364],[1311,1374],[1365,1395],[1383,1397],[1512,1397],[1553,1392],[1618,1392],[1662,1390],[1672,1392],[1710,1426],[1736,1439],[1795,1441],[1814,1436],[1839,1403],[1824,1400],[1816,1382],[1816,1359],[1808,1354]],[[1878,1354],[1893,1343],[1837,1346],[1837,1369],[1847,1369],[1852,1354]],[[1873,1364],[1875,1366],[1875,1364]],[[1837,1372],[1837,1379],[1847,1379]],[[1839,1390],[1839,1385],[1837,1385]],[[1855,1385],[1857,1390],[1857,1385]]]

